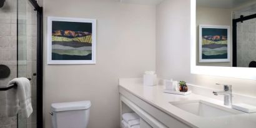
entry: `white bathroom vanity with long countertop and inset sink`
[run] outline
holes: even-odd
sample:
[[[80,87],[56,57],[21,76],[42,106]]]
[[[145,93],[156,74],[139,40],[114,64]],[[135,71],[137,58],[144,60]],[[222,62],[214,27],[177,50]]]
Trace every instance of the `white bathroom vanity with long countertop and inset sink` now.
[[[256,126],[256,113],[237,111],[223,101],[195,93],[180,96],[163,91],[161,85],[143,86],[142,79],[119,79],[121,115],[136,112],[144,122],[142,128]]]

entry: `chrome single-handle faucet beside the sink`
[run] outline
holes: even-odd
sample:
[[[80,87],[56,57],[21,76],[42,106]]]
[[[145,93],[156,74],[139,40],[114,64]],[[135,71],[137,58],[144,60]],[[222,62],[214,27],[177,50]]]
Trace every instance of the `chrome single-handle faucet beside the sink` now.
[[[215,96],[224,95],[224,105],[231,106],[232,105],[232,86],[231,85],[224,85],[224,84],[217,84],[223,85],[224,91],[213,92]]]

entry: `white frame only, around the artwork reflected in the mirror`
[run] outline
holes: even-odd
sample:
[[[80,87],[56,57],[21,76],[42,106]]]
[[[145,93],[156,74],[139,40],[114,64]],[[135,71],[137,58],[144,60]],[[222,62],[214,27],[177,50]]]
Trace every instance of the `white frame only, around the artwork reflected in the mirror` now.
[[[227,58],[226,59],[204,59],[203,58],[203,45],[202,45],[202,29],[227,29]],[[217,35],[212,35],[212,36],[217,36]],[[219,35],[220,36],[220,35]],[[199,62],[230,62],[230,45],[231,45],[231,41],[230,41],[230,26],[216,26],[216,25],[203,25],[200,24],[199,25]]]

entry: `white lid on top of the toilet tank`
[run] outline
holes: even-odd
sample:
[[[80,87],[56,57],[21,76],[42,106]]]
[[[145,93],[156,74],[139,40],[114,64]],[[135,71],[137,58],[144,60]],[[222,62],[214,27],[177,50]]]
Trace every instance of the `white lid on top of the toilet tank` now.
[[[51,105],[53,112],[85,110],[91,107],[91,101],[61,102]]]

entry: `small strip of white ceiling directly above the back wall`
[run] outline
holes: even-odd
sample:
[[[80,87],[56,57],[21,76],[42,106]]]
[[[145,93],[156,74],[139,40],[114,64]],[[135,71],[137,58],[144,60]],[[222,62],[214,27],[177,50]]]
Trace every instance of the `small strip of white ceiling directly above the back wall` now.
[[[120,0],[120,2],[128,4],[144,4],[144,5],[157,5],[164,0]]]

